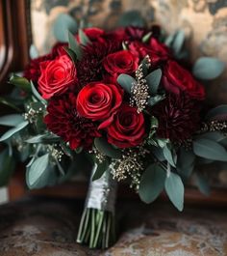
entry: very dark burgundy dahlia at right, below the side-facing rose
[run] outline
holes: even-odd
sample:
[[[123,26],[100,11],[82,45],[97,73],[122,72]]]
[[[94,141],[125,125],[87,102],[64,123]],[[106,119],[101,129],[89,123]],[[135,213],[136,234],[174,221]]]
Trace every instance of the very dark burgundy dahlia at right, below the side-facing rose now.
[[[198,101],[189,96],[168,95],[152,111],[159,120],[158,136],[180,143],[189,139],[199,128],[199,109]]]

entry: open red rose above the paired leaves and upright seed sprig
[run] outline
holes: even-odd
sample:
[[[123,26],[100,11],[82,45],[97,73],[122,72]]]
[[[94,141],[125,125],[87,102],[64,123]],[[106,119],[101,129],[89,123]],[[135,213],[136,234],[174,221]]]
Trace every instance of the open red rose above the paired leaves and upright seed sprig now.
[[[138,69],[138,59],[128,50],[109,54],[103,61],[103,66],[110,74],[133,73]]]

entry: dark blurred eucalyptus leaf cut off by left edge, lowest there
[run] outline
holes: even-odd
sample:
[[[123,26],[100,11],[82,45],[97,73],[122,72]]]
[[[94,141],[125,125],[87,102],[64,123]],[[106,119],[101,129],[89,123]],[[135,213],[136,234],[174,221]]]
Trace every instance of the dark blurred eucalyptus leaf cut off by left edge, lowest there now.
[[[15,168],[15,160],[10,156],[9,149],[0,153],[0,186],[8,185]]]

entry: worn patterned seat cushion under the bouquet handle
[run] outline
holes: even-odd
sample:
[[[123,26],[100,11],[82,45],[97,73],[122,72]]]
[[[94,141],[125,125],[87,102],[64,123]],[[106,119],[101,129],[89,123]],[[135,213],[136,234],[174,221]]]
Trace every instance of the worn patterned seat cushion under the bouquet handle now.
[[[227,212],[119,202],[120,238],[107,251],[77,244],[83,202],[29,198],[0,207],[1,256],[227,255]]]

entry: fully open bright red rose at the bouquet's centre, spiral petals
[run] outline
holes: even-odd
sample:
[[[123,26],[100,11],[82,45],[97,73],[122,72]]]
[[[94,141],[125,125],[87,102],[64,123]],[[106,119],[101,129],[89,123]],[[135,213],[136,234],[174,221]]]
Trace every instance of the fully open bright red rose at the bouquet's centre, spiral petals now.
[[[77,110],[83,117],[101,121],[99,128],[104,128],[113,121],[122,98],[122,91],[114,84],[89,83],[78,94]]]

